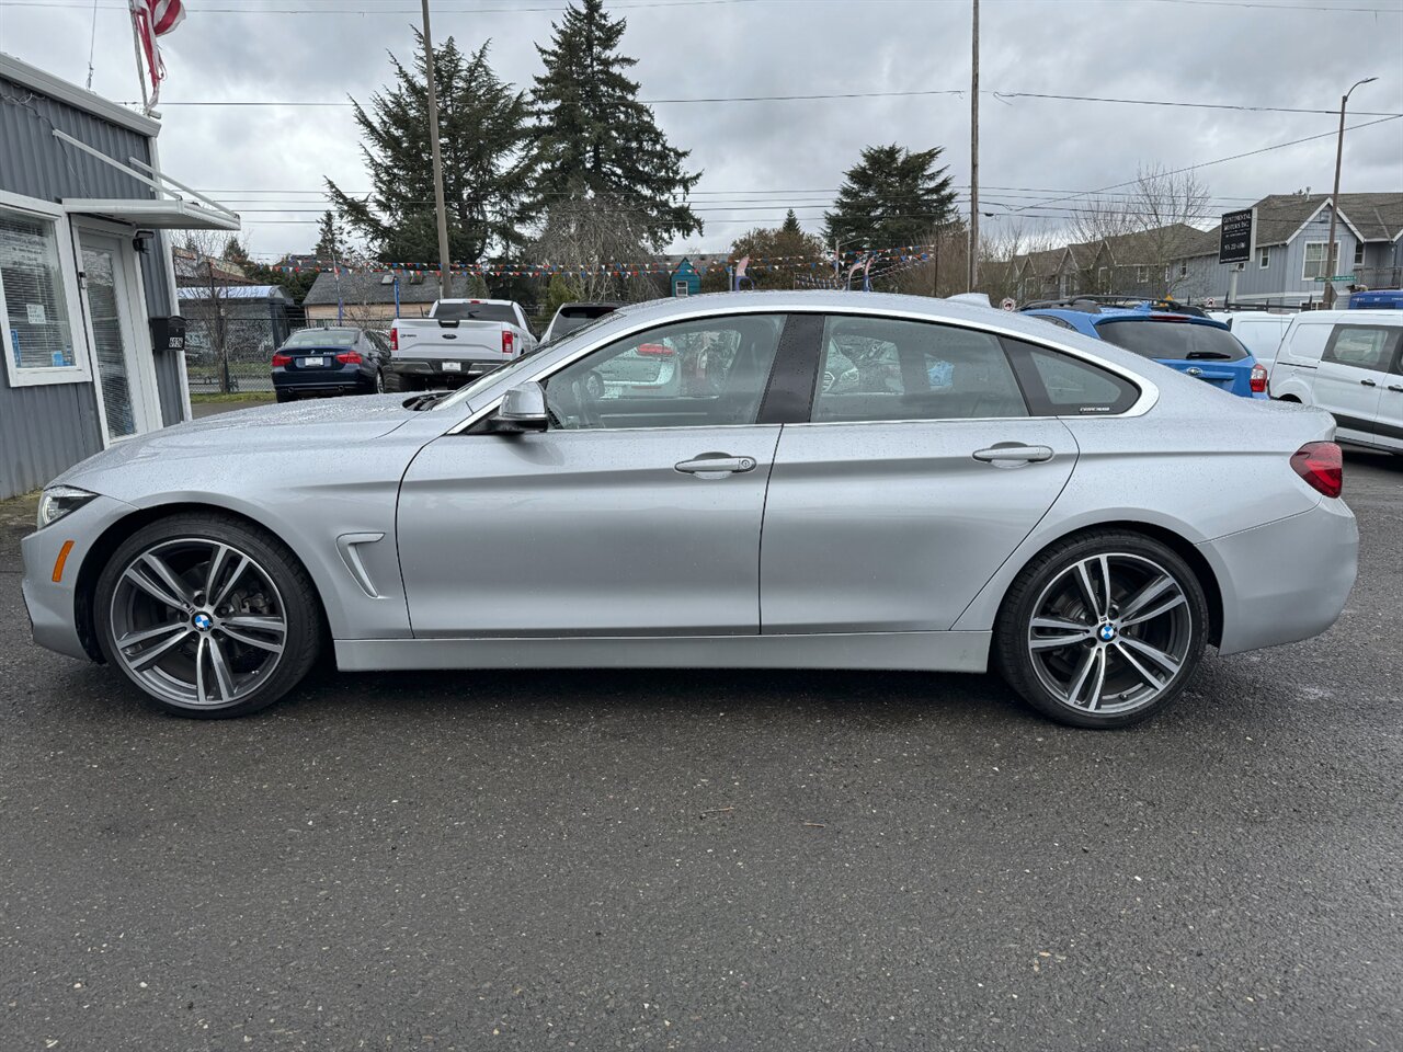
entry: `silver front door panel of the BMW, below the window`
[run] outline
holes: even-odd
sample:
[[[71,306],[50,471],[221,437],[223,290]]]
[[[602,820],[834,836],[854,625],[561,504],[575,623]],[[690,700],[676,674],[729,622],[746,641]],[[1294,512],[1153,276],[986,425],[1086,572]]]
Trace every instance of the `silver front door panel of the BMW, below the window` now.
[[[756,634],[779,433],[551,429],[429,443],[400,492],[414,634]],[[753,466],[675,467],[709,454]]]

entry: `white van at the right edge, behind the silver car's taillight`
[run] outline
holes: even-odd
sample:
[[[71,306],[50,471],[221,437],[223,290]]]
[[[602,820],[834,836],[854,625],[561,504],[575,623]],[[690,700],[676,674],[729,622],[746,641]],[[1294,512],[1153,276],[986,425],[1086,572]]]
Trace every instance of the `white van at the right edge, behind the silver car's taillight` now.
[[[1271,394],[1329,410],[1344,442],[1403,453],[1403,311],[1296,314],[1271,367]]]

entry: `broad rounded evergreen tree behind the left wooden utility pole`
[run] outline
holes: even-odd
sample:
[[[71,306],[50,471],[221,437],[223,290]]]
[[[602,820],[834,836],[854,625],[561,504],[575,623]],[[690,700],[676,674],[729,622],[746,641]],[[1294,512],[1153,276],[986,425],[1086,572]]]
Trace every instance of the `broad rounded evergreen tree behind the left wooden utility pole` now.
[[[372,95],[368,108],[352,100],[361,154],[375,189],[362,201],[327,180],[337,210],[386,262],[438,259],[424,36],[414,35],[414,66],[391,55],[394,83]],[[450,36],[434,49],[449,255],[455,261],[509,252],[523,240],[526,100],[492,72],[488,46],[464,55]]]

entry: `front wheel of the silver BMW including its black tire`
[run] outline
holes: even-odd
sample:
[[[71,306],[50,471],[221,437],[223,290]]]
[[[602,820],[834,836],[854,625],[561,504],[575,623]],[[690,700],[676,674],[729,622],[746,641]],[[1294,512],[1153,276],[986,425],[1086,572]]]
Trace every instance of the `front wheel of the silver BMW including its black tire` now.
[[[177,715],[271,706],[321,648],[306,569],[276,539],[222,515],[139,529],[100,574],[93,609],[107,661]]]

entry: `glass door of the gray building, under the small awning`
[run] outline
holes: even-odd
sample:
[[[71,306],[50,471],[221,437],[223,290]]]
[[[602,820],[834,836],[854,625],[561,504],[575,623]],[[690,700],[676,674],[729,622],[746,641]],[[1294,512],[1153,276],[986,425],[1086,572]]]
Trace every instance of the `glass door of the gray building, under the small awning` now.
[[[98,400],[102,403],[107,440],[119,442],[160,425],[152,410],[154,363],[149,355],[143,359],[137,353],[143,341],[136,338],[133,317],[140,302],[135,261],[126,258],[126,245],[115,237],[90,231],[81,231],[79,237]]]

